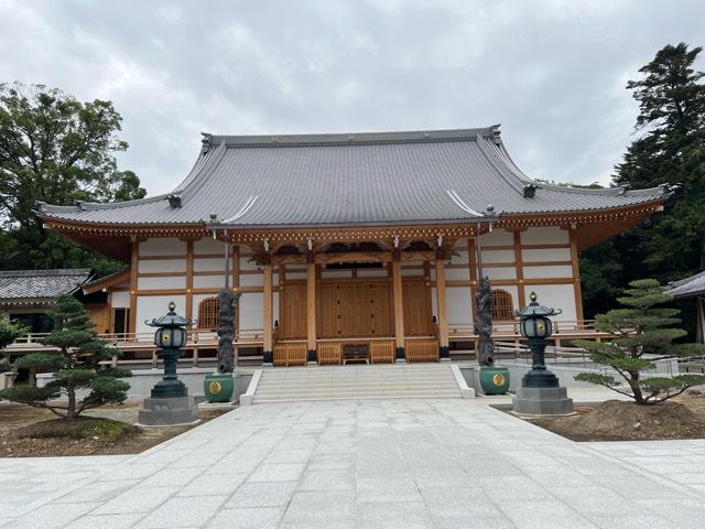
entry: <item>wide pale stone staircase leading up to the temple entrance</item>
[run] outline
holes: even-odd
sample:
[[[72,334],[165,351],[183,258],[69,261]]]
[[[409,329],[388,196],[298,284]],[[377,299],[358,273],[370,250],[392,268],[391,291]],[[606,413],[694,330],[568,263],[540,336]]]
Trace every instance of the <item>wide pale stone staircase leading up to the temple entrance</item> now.
[[[263,369],[252,403],[306,400],[462,398],[449,364]]]

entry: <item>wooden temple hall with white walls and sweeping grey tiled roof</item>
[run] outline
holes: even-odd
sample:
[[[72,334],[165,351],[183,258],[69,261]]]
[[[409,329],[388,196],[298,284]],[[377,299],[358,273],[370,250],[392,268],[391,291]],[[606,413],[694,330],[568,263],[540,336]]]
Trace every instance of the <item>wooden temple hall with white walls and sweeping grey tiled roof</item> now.
[[[166,195],[40,204],[37,215],[129,266],[84,291],[107,294],[110,332],[134,350],[151,350],[143,322],[170,301],[198,321],[191,345],[213,349],[227,274],[241,293],[241,356],[424,361],[473,343],[484,276],[498,336],[518,336],[512,313],[532,291],[563,310],[558,336],[585,331],[578,252],[662,209],[666,196],[665,187],[532,181],[494,126],[204,134],[193,169]]]

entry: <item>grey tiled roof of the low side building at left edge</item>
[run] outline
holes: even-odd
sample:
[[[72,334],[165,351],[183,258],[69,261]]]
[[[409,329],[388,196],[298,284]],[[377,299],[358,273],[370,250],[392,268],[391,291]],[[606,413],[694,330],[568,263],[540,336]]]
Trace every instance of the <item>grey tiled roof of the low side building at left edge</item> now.
[[[47,300],[76,292],[93,274],[89,268],[0,271],[0,302]]]

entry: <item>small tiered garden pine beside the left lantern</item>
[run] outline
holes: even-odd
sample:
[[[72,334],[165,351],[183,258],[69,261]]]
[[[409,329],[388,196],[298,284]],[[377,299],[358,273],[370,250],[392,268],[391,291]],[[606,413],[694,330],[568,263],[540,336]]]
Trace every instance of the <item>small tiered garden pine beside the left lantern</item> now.
[[[84,411],[108,402],[123,402],[130,385],[120,378],[131,374],[101,369],[101,360],[121,353],[96,337],[84,306],[70,295],[62,295],[56,299],[52,316],[54,331],[42,343],[56,347],[58,354],[25,355],[14,361],[14,368],[54,371],[54,379],[43,388],[3,389],[0,399],[45,408],[67,420],[75,420]],[[79,398],[79,391],[85,391],[85,397]],[[56,400],[61,397],[66,400]]]

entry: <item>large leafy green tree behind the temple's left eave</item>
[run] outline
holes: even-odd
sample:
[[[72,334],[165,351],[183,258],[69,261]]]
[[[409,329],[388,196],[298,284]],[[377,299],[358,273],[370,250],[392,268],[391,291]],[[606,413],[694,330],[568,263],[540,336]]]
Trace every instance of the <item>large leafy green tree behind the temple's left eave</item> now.
[[[48,233],[34,215],[37,202],[141,198],[131,171],[119,171],[116,153],[121,116],[110,101],[80,102],[55,88],[0,84],[0,238],[12,268],[106,267],[89,250]],[[115,267],[113,267],[115,268]]]

